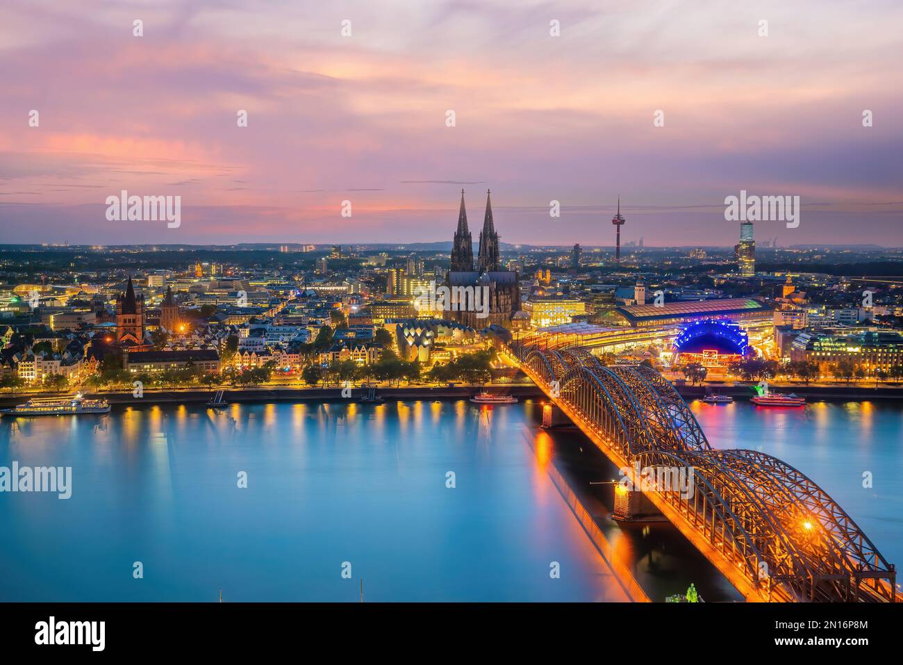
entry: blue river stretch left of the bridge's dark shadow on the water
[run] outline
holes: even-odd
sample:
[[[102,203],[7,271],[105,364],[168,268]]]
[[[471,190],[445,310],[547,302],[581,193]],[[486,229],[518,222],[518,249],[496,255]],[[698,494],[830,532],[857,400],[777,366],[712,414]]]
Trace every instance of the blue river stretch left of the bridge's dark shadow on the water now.
[[[74,477],[0,494],[0,600],[622,599],[525,425],[463,401],[5,418],[0,465]]]

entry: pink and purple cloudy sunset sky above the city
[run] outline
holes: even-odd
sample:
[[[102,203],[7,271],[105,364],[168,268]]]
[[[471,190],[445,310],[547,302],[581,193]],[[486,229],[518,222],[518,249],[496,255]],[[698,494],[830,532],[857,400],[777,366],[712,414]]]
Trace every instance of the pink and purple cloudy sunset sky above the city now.
[[[461,189],[476,239],[491,189],[510,243],[610,245],[620,195],[622,242],[731,246],[745,190],[800,197],[759,242],[903,246],[901,24],[898,0],[4,0],[0,243],[451,240]],[[123,190],[180,196],[179,226],[107,220]]]

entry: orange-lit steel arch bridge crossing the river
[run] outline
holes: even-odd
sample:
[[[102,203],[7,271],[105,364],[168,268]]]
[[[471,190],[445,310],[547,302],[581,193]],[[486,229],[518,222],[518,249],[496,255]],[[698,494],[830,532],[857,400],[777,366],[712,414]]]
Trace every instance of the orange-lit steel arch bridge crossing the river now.
[[[692,469],[692,496],[647,493],[692,540],[702,539],[706,556],[721,557],[716,564],[738,571],[762,598],[897,600],[894,567],[824,490],[771,455],[713,449],[684,398],[656,370],[606,367],[579,347],[513,343],[509,351],[621,461]]]

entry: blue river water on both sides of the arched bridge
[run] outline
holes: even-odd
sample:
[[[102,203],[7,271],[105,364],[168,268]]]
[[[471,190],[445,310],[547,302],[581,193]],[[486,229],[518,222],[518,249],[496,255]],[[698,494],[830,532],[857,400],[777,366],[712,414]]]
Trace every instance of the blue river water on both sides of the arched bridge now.
[[[903,563],[903,404],[691,407],[712,445],[796,466]],[[0,492],[0,601],[358,602],[361,579],[366,601],[623,600],[550,464],[650,598],[738,599],[669,524],[610,520],[617,471],[539,419],[531,400],[5,417],[0,466],[69,466],[72,488]]]

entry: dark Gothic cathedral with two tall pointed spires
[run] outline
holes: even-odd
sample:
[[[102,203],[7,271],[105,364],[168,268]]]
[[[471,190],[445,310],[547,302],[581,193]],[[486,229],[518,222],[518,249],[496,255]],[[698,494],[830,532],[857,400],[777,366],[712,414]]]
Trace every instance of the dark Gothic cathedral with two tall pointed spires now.
[[[511,316],[520,310],[520,285],[515,271],[501,267],[498,249],[498,233],[492,220],[492,202],[486,192],[486,214],[483,230],[479,233],[477,267],[473,267],[473,238],[467,227],[467,211],[464,208],[464,190],[461,190],[461,211],[458,212],[458,229],[452,241],[452,265],[446,277],[446,286],[473,286],[474,290],[488,287],[489,316],[480,312],[459,311],[452,306],[443,313],[445,318],[457,321],[471,328],[485,328],[489,325],[509,326]],[[484,292],[486,293],[486,292]]]

